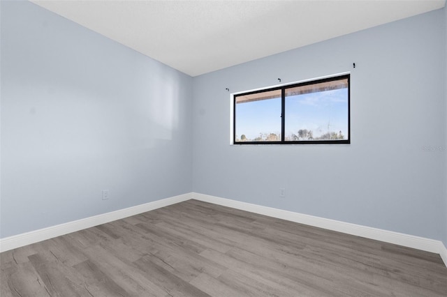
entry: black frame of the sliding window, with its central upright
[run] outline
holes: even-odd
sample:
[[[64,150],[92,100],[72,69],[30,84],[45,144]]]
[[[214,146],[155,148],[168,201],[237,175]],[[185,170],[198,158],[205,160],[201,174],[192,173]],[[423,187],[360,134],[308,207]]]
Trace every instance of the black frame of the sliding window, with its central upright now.
[[[307,86],[309,84],[320,84],[322,82],[332,82],[336,80],[348,80],[348,135],[347,139],[333,139],[333,140],[285,140],[285,123],[286,123],[286,89]],[[247,96],[256,93],[264,93],[268,91],[281,90],[281,140],[280,141],[258,141],[258,142],[237,142],[236,141],[236,98],[239,96]],[[332,77],[325,77],[323,79],[314,79],[306,82],[285,84],[267,89],[259,89],[256,91],[249,91],[244,93],[233,94],[233,144],[351,144],[351,74],[336,75]]]

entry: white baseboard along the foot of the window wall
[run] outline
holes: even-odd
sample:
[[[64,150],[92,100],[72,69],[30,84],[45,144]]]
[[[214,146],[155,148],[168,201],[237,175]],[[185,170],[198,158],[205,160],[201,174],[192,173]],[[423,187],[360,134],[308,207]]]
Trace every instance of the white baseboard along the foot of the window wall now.
[[[386,243],[393,243],[402,245],[407,248],[415,248],[424,250],[426,252],[434,252],[441,256],[444,264],[447,266],[447,248],[441,241],[435,241],[430,238],[423,238],[409,234],[402,234],[394,231],[387,231],[383,229],[376,229],[372,227],[365,227],[358,224],[351,224],[347,222],[340,222],[337,220],[330,220],[325,218],[315,217],[313,215],[305,215],[302,213],[293,213],[292,211],[284,211],[268,206],[260,206],[256,204],[249,204],[246,202],[235,201],[231,199],[215,197],[211,195],[192,193],[192,198],[200,201],[210,202],[212,204],[219,204],[221,206],[228,206],[237,208],[242,211],[249,211],[251,213],[258,213],[261,215],[268,215],[269,217],[279,218],[301,224],[307,224],[314,227],[329,229],[332,231],[339,231],[345,234],[374,239],[376,241],[383,241]]]

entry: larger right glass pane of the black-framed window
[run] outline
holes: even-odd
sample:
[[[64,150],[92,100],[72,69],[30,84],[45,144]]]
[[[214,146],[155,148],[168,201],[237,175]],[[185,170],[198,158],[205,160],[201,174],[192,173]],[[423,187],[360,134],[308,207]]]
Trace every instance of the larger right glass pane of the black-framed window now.
[[[348,79],[286,89],[285,141],[348,139]]]

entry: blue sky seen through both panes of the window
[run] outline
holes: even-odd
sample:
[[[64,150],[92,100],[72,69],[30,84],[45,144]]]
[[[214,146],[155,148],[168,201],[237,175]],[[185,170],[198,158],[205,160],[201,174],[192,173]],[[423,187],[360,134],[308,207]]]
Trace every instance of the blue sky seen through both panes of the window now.
[[[286,140],[298,130],[312,130],[314,138],[341,131],[348,137],[348,89],[286,96]],[[236,138],[254,140],[260,135],[281,134],[281,98],[240,102],[235,112]]]

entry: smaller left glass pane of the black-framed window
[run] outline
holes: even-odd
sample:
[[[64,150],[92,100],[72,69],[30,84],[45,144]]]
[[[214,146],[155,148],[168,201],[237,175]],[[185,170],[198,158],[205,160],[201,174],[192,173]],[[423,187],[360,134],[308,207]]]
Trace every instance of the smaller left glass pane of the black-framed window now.
[[[235,97],[235,142],[281,142],[281,90]]]

